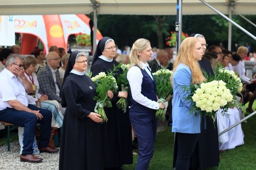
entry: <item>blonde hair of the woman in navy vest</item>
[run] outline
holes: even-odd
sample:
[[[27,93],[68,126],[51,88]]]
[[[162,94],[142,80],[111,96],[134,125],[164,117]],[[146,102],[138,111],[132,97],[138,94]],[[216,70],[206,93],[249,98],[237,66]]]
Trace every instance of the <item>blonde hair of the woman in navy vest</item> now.
[[[137,54],[137,51],[138,52],[144,51],[149,44],[150,44],[150,41],[145,39],[145,38],[137,39],[134,42],[134,44],[131,47],[130,54],[129,54],[129,58],[130,58],[129,68],[131,68],[132,66],[137,64],[141,69],[144,69],[144,68],[142,68],[142,66],[139,62],[140,59],[139,59],[139,56]]]

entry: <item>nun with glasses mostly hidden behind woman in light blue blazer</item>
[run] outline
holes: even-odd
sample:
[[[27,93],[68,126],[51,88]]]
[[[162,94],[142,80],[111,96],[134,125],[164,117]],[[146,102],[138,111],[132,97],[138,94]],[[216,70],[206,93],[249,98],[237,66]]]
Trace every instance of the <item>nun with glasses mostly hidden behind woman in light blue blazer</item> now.
[[[206,40],[202,34],[192,33],[190,37],[196,37],[202,45],[202,50],[205,53]],[[205,53],[204,56],[217,56],[213,53]],[[218,56],[217,56],[218,57]],[[202,57],[198,61],[202,71],[206,71],[208,77],[214,75],[213,68],[206,57]],[[213,122],[210,116],[205,116],[206,129],[202,129],[198,142],[195,145],[194,151],[190,159],[190,169],[205,169],[209,167],[218,167],[220,162],[219,157],[219,141],[218,141],[218,128],[217,121]],[[175,165],[175,163],[174,163]]]

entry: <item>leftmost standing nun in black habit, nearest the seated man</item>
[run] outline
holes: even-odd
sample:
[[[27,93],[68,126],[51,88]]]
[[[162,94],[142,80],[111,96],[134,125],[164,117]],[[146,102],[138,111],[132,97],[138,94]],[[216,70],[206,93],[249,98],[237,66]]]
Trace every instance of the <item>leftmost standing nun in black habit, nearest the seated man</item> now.
[[[102,118],[94,113],[96,85],[84,74],[87,61],[85,53],[72,52],[64,74],[60,170],[103,170]]]

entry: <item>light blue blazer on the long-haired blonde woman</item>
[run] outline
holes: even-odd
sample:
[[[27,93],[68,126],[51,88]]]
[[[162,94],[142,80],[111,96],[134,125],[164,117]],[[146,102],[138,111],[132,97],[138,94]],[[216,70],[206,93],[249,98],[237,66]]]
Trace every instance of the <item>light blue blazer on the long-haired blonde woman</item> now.
[[[195,134],[201,132],[201,115],[190,112],[192,102],[185,99],[190,95],[189,90],[192,72],[185,64],[179,64],[173,73],[173,101],[172,101],[172,132]]]

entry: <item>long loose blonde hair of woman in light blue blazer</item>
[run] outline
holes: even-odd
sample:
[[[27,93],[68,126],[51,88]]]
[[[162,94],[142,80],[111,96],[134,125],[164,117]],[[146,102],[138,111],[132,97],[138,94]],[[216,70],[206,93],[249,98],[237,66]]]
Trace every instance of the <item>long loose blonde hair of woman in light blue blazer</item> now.
[[[197,42],[199,42],[199,40],[195,37],[188,37],[184,39],[180,45],[178,56],[173,64],[173,72],[175,72],[180,63],[183,63],[190,68],[192,72],[192,85],[201,84],[203,81],[206,81],[198,61],[195,60],[194,45]]]

